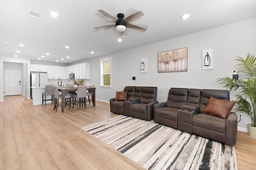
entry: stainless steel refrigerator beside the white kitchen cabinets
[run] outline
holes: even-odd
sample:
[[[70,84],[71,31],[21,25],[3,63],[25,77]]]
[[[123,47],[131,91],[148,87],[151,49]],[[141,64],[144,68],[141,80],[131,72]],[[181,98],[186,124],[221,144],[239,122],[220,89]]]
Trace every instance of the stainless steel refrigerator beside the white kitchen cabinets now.
[[[30,72],[30,97],[32,96],[31,87],[45,87],[48,84],[48,74],[47,72]]]

